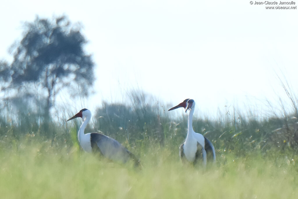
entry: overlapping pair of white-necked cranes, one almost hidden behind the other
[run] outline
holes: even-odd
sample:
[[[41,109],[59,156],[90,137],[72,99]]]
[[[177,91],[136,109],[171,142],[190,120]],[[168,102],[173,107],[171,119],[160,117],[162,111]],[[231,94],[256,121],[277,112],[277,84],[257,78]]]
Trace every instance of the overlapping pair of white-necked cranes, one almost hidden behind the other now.
[[[189,111],[188,115],[188,124],[187,124],[187,136],[185,142],[180,146],[180,158],[181,160],[187,160],[189,162],[195,163],[198,160],[198,157],[203,155],[203,164],[206,166],[207,164],[207,152],[212,153],[213,161],[215,162],[215,149],[213,144],[205,138],[200,133],[195,133],[193,130],[193,112],[195,110],[195,100],[193,99],[185,99],[183,102],[170,108],[169,111],[172,111],[176,108],[183,107],[185,109],[185,113],[187,110]]]

